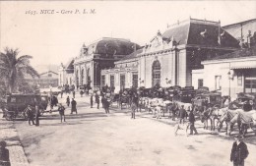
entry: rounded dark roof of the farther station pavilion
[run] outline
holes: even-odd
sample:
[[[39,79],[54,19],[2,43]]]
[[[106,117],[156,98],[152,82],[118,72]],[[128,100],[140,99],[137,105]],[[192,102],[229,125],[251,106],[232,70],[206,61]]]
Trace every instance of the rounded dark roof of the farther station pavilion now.
[[[129,55],[134,51],[134,47],[140,47],[138,44],[123,38],[103,37],[88,47],[83,45],[86,54],[99,54],[102,57],[113,55]]]

